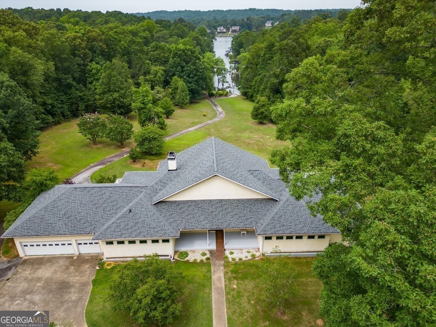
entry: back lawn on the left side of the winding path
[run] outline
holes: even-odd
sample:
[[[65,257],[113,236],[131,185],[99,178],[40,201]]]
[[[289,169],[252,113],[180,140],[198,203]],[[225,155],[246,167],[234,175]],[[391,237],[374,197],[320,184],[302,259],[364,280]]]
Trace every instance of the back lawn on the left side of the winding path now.
[[[206,116],[202,113],[205,112]],[[195,126],[216,116],[215,109],[206,100],[195,101],[186,109],[176,108],[174,115],[167,119],[167,134]],[[134,129],[138,129],[136,114],[129,115]],[[28,168],[53,167],[61,179],[71,177],[80,170],[123,148],[107,139],[98,140],[97,145],[78,134],[77,119],[45,129],[40,137],[39,154],[28,162]],[[133,141],[125,143],[125,148]]]

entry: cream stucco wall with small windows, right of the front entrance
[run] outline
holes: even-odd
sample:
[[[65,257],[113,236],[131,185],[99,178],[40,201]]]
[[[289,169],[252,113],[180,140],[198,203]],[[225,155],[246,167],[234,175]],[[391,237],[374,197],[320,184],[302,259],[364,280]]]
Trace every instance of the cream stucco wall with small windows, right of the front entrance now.
[[[281,236],[281,235],[280,235]],[[266,240],[263,236],[263,251],[273,252],[274,247],[278,246],[281,252],[318,252],[323,251],[329,245],[330,235],[325,235],[325,238],[307,239],[307,235],[303,235],[303,239],[287,240],[286,235],[283,235],[283,240],[277,240],[276,236],[272,236],[272,240]],[[259,242],[260,243],[260,242]]]

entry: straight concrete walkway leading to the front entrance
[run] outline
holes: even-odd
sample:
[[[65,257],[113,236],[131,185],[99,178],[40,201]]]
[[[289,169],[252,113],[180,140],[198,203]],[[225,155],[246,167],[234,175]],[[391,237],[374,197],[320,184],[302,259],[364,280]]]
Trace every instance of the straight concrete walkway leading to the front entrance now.
[[[209,250],[212,267],[212,317],[214,327],[227,327],[224,290],[224,261],[215,259],[215,251]]]

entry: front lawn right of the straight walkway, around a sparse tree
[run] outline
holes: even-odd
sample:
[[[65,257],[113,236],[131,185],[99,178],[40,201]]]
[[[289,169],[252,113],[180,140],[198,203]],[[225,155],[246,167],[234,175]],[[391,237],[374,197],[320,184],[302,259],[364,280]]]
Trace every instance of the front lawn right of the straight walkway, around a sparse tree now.
[[[323,326],[320,319],[322,283],[312,272],[314,258],[289,258],[299,270],[297,286],[300,293],[289,303],[287,314],[263,307],[259,295],[257,260],[225,262],[224,283],[228,327],[306,327]]]

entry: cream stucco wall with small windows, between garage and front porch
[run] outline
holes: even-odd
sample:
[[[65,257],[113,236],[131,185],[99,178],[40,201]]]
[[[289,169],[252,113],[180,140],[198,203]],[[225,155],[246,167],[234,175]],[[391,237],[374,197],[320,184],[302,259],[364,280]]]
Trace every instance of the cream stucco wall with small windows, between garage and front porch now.
[[[140,257],[144,254],[157,253],[160,255],[174,255],[174,240],[170,238],[169,243],[162,243],[159,238],[159,243],[152,243],[151,238],[146,239],[147,244],[140,244],[140,239],[136,239],[136,244],[129,244],[129,240],[104,240],[101,241],[101,248],[106,258],[128,258],[132,256]],[[153,238],[158,239],[158,238]],[[113,245],[106,245],[106,241],[113,241]],[[116,241],[125,241],[124,245],[116,244]],[[132,240],[131,240],[132,241]]]

